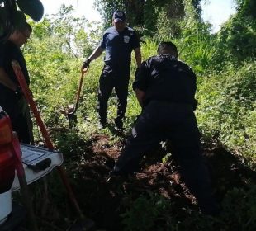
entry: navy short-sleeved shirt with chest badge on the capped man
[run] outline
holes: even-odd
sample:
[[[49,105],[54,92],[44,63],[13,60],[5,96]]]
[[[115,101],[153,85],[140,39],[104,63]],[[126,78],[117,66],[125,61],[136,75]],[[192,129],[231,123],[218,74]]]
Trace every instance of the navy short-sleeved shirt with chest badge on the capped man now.
[[[129,66],[131,52],[140,47],[140,40],[130,27],[118,32],[112,26],[104,32],[100,46],[105,50],[106,64]]]

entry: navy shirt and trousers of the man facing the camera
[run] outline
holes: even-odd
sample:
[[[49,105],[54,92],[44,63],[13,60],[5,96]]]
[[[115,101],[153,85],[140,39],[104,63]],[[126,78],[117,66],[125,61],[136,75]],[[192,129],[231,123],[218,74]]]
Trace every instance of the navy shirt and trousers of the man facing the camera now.
[[[113,26],[104,32],[100,46],[105,50],[106,55],[100,77],[98,112],[101,122],[105,124],[107,101],[115,88],[118,100],[116,122],[119,122],[126,113],[131,52],[140,47],[140,42],[135,31],[130,27],[118,32]]]

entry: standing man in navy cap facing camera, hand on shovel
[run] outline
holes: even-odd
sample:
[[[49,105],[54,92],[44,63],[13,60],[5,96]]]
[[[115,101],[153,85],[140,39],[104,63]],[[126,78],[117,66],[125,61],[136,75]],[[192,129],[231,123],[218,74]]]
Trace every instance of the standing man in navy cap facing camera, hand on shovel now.
[[[108,28],[102,37],[99,46],[83,63],[83,68],[88,68],[93,59],[97,59],[106,50],[104,68],[99,80],[98,114],[100,117],[99,128],[104,128],[107,123],[107,101],[115,88],[118,100],[116,129],[122,130],[122,119],[126,113],[128,84],[130,78],[130,56],[135,52],[137,67],[141,64],[140,42],[135,31],[126,26],[125,12],[116,11],[113,14],[113,26]]]

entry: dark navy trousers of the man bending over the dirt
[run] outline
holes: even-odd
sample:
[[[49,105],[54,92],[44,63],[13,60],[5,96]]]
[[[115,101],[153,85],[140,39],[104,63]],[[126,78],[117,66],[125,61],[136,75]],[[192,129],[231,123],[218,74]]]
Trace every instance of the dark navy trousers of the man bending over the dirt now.
[[[114,172],[135,172],[143,155],[166,139],[171,142],[173,158],[187,187],[197,197],[202,212],[211,214],[216,210],[216,202],[211,195],[211,181],[202,158],[197,120],[190,105],[149,102],[136,121]]]

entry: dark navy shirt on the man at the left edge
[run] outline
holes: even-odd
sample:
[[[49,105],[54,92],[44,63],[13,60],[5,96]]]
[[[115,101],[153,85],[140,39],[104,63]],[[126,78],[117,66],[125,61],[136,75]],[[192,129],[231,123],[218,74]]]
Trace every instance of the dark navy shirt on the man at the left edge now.
[[[29,85],[30,78],[26,69],[26,61],[21,52],[21,49],[10,40],[7,40],[6,43],[0,43],[0,67],[5,70],[13,82],[19,85],[16,75],[12,69],[12,60],[17,60],[17,62],[20,64],[22,73],[26,78],[26,83]],[[0,83],[0,88],[2,89],[2,87],[4,86]]]

